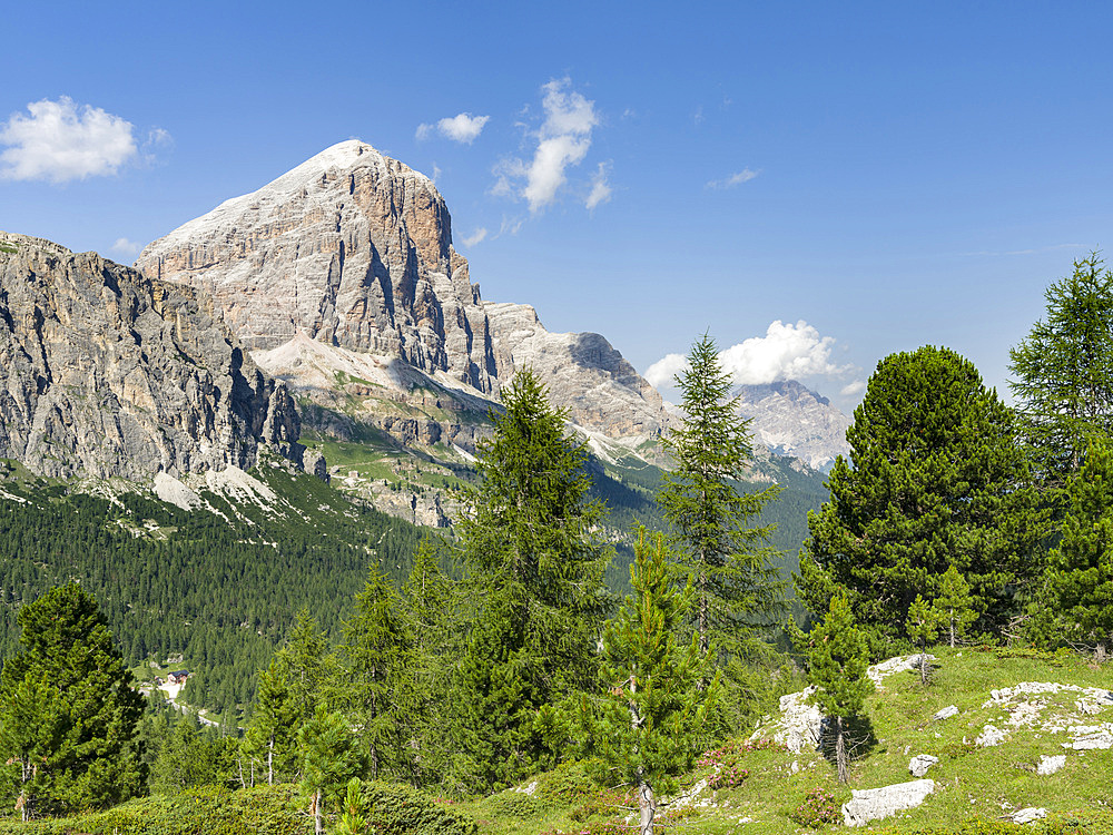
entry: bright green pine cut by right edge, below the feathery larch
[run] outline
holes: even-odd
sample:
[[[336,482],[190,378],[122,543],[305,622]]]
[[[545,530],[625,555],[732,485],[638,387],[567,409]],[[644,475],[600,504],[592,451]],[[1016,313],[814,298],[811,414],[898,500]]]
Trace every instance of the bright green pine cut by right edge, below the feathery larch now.
[[[1091,442],[1082,470],[1067,481],[1063,537],[1047,559],[1044,589],[1033,607],[1045,639],[1094,649],[1113,647],[1113,451]]]

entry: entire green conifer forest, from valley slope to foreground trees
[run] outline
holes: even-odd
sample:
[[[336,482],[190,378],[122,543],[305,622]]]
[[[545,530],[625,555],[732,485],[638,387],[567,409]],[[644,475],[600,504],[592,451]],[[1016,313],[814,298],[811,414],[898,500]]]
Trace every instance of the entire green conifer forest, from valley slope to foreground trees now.
[[[684,416],[654,490],[593,488],[585,445],[523,372],[451,538],[332,505],[280,471],[303,513],[256,514],[245,534],[134,495],[21,495],[31,481],[13,470],[0,517],[0,547],[19,554],[0,578],[13,814],[48,826],[149,795],[144,814],[173,816],[159,798],[200,792],[238,809],[229,832],[474,832],[456,803],[550,775],[554,796],[608,798],[579,832],[651,835],[698,764],[745,780],[722,764],[779,745],[750,740],[755,721],[805,684],[845,786],[884,741],[855,736],[871,662],[916,652],[924,688],[934,646],[1103,665],[1113,274],[1095,254],[1046,301],[1012,350],[1015,406],[946,347],[878,362],[791,583],[767,514],[782,490],[745,481],[751,442],[707,335],[679,375]],[[600,493],[650,525],[618,563]],[[609,588],[614,564],[628,581]],[[219,714],[215,727],[134,689],[131,668],[168,646],[204,666],[185,701]],[[784,825],[833,821],[801,809]],[[131,831],[118,814],[80,826]]]

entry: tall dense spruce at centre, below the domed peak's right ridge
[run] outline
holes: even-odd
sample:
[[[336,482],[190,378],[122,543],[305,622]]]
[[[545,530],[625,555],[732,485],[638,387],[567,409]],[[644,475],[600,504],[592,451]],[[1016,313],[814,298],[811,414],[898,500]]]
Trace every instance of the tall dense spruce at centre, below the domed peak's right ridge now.
[[[587,451],[567,434],[565,413],[529,370],[503,389],[502,401],[505,412],[492,413],[493,436],[480,445],[482,482],[459,524],[480,603],[454,699],[457,763],[502,762],[499,782],[545,756],[531,730],[536,710],[594,681],[611,554],[599,530],[604,509],[588,500]],[[473,710],[477,694],[496,705],[503,688],[505,708]]]

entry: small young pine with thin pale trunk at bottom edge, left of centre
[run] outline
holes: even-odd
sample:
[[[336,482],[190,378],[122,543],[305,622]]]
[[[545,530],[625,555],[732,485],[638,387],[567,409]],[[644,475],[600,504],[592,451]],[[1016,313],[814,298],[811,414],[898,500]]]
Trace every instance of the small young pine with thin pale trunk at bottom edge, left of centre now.
[[[348,780],[358,777],[363,763],[355,737],[344,717],[318,705],[297,733],[302,790],[309,797],[316,835],[325,832],[325,806],[339,802]]]

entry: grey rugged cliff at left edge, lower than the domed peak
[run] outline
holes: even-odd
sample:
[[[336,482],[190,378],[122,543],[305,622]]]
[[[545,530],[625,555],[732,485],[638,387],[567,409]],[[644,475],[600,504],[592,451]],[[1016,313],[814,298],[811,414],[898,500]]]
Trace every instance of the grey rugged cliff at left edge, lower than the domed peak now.
[[[301,461],[289,394],[211,301],[39,238],[0,249],[0,456],[134,481],[247,469],[263,443]]]

